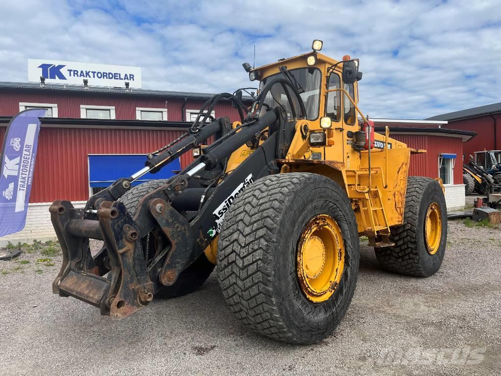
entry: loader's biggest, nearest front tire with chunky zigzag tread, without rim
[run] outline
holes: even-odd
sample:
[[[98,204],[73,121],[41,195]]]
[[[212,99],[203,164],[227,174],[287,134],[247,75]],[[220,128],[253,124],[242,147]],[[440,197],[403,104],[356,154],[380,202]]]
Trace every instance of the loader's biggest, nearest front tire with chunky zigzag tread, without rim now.
[[[345,264],[330,298],[313,303],[301,290],[297,247],[319,214],[338,224]],[[219,235],[217,272],[229,309],[250,329],[289,343],[328,337],[355,292],[360,259],[357,223],[346,193],[314,173],[264,177],[246,187],[226,213]]]

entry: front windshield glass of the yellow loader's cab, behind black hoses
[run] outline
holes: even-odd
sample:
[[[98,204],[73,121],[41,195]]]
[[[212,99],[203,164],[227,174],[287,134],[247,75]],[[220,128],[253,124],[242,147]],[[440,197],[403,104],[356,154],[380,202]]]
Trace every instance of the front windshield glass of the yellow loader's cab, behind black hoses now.
[[[315,120],[318,118],[319,108],[320,108],[320,85],[321,85],[321,76],[320,70],[317,68],[299,68],[292,69],[289,72],[296,78],[299,85],[303,87],[304,93],[301,93],[301,99],[305,105],[306,109],[306,118],[308,120]],[[272,76],[268,76],[267,78],[261,81],[260,89],[266,86],[266,82],[275,78],[283,76],[282,73],[277,73]],[[294,85],[294,83],[293,83]],[[298,90],[301,91],[301,86],[298,85]],[[291,88],[287,85],[284,85],[286,90],[289,92],[289,95],[293,101],[294,109],[296,110],[296,115],[300,116],[301,108],[299,106],[299,102],[296,98],[296,95],[292,92]],[[276,106],[277,103],[282,105],[287,111],[289,119],[292,119],[292,111],[289,100],[287,99],[287,94],[284,91],[284,86],[281,84],[273,85],[272,89],[268,92],[265,103],[270,105],[271,107]]]

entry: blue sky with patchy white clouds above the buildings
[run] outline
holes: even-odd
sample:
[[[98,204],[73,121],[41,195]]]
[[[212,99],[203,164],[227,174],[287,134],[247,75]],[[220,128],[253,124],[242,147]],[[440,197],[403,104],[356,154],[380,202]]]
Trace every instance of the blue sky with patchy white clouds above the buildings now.
[[[2,0],[0,81],[27,59],[142,67],[147,89],[233,91],[263,65],[324,41],[360,58],[371,117],[426,118],[500,102],[501,0]]]

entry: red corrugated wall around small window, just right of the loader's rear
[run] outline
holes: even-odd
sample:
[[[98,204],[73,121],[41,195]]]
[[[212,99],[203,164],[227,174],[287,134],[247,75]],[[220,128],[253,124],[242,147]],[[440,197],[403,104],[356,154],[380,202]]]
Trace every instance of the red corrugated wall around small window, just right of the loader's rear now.
[[[440,153],[456,154],[454,184],[463,183],[462,139],[460,137],[429,136],[419,134],[391,134],[390,137],[405,142],[409,147],[425,149],[424,154],[410,157],[410,176],[438,177],[438,156]]]

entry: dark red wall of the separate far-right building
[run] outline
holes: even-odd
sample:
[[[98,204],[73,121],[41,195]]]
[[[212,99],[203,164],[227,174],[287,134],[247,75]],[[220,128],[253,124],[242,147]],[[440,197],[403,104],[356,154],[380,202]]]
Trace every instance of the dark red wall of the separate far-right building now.
[[[475,151],[499,150],[501,149],[501,116],[493,115],[496,118],[496,129],[494,130],[494,120],[490,116],[482,116],[473,119],[450,121],[444,128],[471,130],[477,135],[463,145],[466,157],[473,155]]]

